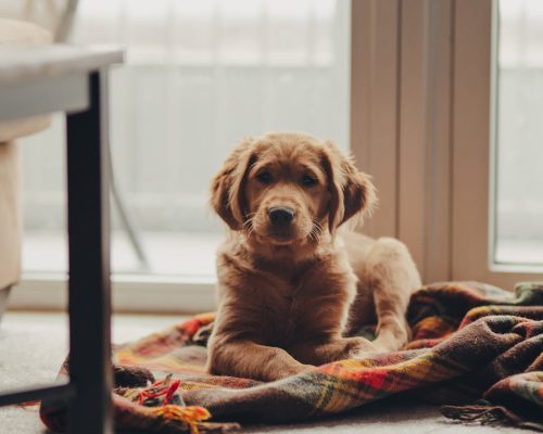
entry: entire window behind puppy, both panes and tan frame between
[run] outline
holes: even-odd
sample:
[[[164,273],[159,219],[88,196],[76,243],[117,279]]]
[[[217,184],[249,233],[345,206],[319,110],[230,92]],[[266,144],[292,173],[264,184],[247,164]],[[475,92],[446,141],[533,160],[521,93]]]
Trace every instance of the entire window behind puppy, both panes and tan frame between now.
[[[127,48],[111,77],[116,289],[152,304],[205,277],[211,293],[210,178],[268,130],[351,148],[380,200],[363,230],[404,241],[425,282],[541,280],[542,28],[541,0],[79,1],[73,41]],[[65,267],[60,123],[25,146],[27,271]]]

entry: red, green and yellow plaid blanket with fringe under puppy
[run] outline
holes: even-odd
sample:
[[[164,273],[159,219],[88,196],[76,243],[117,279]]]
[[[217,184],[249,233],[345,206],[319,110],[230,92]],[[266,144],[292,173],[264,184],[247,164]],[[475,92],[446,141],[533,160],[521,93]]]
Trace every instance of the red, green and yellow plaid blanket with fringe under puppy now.
[[[445,404],[447,418],[543,431],[543,283],[520,283],[515,294],[472,282],[425,286],[412,297],[413,340],[403,350],[273,383],[205,373],[213,318],[200,315],[115,349],[117,427],[225,432],[236,422],[308,420],[403,394]],[[41,405],[53,431],[64,414]]]

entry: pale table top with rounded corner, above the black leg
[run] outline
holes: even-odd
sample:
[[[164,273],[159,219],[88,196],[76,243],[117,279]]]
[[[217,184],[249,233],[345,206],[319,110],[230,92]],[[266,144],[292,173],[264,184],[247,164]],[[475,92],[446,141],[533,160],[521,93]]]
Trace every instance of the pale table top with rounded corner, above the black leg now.
[[[87,74],[122,62],[123,50],[112,47],[0,44],[0,87],[65,74]]]

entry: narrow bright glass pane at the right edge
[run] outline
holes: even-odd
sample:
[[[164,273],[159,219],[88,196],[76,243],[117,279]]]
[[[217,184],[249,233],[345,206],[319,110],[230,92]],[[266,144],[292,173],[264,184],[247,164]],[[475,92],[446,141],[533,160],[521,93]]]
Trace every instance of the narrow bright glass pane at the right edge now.
[[[495,250],[543,264],[543,2],[497,2]]]

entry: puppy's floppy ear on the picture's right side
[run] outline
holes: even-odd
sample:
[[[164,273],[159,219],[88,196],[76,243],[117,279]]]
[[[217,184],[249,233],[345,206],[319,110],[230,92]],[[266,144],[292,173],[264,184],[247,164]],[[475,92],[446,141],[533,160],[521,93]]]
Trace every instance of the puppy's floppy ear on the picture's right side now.
[[[325,142],[323,167],[328,176],[330,233],[352,217],[370,212],[377,202],[376,189],[368,175],[359,171],[351,157],[332,142]]]

